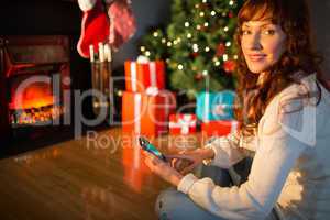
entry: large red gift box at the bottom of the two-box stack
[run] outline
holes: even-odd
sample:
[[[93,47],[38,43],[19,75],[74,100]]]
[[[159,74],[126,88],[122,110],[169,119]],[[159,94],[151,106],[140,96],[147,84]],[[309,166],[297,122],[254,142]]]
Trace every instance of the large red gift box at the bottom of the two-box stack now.
[[[122,97],[122,131],[125,133],[157,136],[167,132],[168,117],[175,110],[173,92],[124,91]]]

